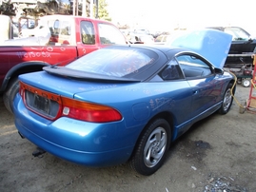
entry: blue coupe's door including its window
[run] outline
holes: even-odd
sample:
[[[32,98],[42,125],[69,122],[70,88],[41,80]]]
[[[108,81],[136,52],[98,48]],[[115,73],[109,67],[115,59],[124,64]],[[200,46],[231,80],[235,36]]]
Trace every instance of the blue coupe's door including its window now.
[[[192,122],[203,119],[216,110],[221,84],[213,67],[202,57],[186,53],[176,57],[192,92]]]

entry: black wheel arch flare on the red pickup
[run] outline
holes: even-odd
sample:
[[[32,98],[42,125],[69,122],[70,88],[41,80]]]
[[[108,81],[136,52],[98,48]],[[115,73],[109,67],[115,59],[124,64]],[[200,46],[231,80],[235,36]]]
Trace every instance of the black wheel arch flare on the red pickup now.
[[[48,63],[35,61],[35,62],[23,62],[14,67],[11,67],[5,76],[0,92],[4,92],[9,85],[10,81],[19,76],[20,74],[35,72],[42,70],[43,67],[50,66]]]

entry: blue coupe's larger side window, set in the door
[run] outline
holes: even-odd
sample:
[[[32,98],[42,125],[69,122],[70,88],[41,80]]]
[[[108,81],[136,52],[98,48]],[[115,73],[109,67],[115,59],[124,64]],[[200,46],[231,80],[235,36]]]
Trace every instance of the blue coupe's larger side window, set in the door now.
[[[176,57],[186,78],[203,78],[212,74],[211,67],[197,55]]]

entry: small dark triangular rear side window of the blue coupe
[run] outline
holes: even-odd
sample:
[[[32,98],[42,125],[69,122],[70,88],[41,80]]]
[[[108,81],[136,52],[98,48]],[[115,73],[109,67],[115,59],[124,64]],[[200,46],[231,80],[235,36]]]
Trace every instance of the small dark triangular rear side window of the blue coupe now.
[[[179,64],[175,59],[171,60],[167,67],[165,67],[161,72],[160,76],[163,80],[175,80],[175,79],[181,79],[184,78],[182,71],[179,67]]]

